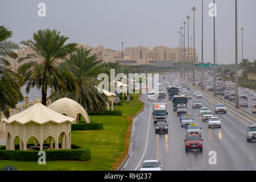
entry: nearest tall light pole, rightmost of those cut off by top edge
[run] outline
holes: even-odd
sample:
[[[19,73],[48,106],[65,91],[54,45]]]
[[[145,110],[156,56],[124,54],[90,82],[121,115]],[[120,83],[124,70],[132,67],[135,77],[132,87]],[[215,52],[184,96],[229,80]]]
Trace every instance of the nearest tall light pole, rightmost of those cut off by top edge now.
[[[238,55],[238,51],[237,51],[237,0],[235,1],[235,8],[236,8],[236,13],[235,13],[235,19],[236,19],[236,23],[235,23],[235,28],[236,28],[236,30],[235,30],[235,34],[236,34],[236,105],[235,105],[235,107],[236,108],[238,108],[239,106],[238,106],[238,64],[237,64],[237,59],[238,59],[238,57],[237,57],[237,55]]]

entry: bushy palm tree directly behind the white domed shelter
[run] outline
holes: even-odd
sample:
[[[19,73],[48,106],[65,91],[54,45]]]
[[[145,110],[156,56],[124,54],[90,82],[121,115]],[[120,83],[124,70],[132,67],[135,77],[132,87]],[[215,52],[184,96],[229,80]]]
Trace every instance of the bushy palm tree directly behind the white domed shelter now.
[[[104,94],[98,93],[96,88],[97,76],[100,73],[108,73],[108,69],[97,60],[96,54],[89,56],[90,50],[79,48],[71,53],[60,64],[60,68],[68,69],[75,77],[77,92],[65,92],[62,88],[56,88],[50,96],[52,101],[67,97],[81,104],[86,111],[102,112],[108,101]]]

